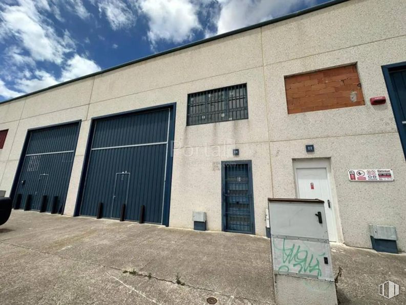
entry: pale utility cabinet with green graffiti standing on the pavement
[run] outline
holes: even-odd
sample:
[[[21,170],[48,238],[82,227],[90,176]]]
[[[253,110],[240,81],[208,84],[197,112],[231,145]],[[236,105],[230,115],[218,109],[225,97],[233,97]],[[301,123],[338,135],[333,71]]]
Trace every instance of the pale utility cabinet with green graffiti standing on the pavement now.
[[[336,304],[324,201],[268,198],[277,304]]]

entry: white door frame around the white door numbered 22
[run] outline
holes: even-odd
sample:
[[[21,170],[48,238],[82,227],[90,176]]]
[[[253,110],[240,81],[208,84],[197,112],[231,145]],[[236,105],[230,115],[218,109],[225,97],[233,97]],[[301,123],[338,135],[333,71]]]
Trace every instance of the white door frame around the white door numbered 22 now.
[[[297,172],[296,169],[306,169],[306,168],[324,168],[326,169],[327,173],[327,184],[329,186],[328,192],[329,192],[329,197],[331,200],[332,204],[332,209],[331,212],[333,214],[333,226],[335,228],[335,242],[338,242],[341,240],[341,234],[340,234],[340,227],[338,226],[338,204],[336,200],[336,196],[333,192],[332,188],[332,183],[331,181],[333,180],[333,177],[331,175],[331,159],[330,158],[297,158],[292,160],[292,165],[293,165],[293,174],[294,174],[294,183],[295,183],[295,195],[296,198],[298,198],[298,181],[297,181]],[[320,198],[319,198],[320,199]]]

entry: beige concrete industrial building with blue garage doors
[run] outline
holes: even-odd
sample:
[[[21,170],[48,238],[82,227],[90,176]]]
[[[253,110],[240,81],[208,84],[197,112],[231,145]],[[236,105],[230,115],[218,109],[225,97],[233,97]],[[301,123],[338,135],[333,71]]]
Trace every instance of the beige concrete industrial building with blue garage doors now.
[[[5,101],[0,190],[257,235],[268,197],[319,198],[331,241],[371,248],[369,225],[392,226],[405,251],[405,16],[333,1]]]

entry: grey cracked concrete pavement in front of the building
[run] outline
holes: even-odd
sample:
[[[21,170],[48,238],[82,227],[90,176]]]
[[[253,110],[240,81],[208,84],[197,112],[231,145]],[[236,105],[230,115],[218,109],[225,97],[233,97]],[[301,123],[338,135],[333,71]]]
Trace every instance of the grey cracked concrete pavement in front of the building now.
[[[333,246],[342,303],[406,303],[406,255]],[[123,273],[135,270],[137,275]],[[176,277],[179,274],[179,282]],[[391,300],[377,285],[401,286]],[[0,227],[7,304],[273,304],[269,239],[13,211]],[[371,303],[369,302],[369,303]]]

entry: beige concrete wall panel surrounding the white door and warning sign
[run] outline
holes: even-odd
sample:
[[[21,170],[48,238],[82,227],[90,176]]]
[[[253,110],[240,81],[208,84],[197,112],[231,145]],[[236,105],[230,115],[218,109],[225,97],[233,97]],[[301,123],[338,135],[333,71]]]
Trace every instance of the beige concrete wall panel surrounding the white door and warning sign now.
[[[293,159],[309,158],[306,144],[314,144],[313,158],[330,158],[339,215],[347,245],[371,247],[369,223],[395,226],[398,246],[406,249],[404,202],[406,166],[396,133],[313,138],[271,143],[272,183],[276,197],[295,197]],[[395,181],[350,181],[348,169],[394,169]]]

